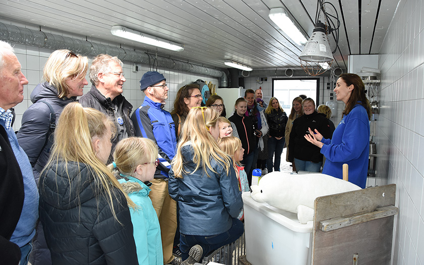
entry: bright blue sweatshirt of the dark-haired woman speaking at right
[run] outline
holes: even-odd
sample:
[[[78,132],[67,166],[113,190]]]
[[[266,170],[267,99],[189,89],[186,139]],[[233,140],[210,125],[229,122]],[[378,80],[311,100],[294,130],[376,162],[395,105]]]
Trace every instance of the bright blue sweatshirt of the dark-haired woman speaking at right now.
[[[343,164],[349,165],[349,182],[365,188],[368,172],[369,121],[365,108],[356,104],[343,117],[332,139],[322,139],[326,157],[323,174],[343,178]]]

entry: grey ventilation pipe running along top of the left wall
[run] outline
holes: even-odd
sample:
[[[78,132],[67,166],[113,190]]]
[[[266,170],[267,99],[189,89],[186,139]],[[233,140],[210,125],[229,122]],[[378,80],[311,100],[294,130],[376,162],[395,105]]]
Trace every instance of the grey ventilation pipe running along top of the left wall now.
[[[119,48],[101,43],[83,41],[14,25],[5,25],[3,23],[0,23],[0,39],[39,48],[70,49],[77,54],[85,56],[108,54],[118,57],[121,61],[143,65],[149,65],[149,62],[153,62],[154,60],[153,56],[130,48]],[[227,75],[221,70],[172,60],[161,56],[157,57],[157,66],[177,71],[218,77],[220,87],[228,87]]]

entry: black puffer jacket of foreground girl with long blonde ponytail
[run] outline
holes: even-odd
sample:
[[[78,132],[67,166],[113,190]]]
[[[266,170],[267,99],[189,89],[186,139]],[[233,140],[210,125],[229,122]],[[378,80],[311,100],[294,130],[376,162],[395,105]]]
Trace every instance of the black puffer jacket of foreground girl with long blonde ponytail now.
[[[114,218],[85,164],[59,161],[40,176],[40,220],[53,264],[138,264],[130,211],[113,189]],[[79,167],[79,168],[78,168]],[[80,174],[79,174],[80,173]]]

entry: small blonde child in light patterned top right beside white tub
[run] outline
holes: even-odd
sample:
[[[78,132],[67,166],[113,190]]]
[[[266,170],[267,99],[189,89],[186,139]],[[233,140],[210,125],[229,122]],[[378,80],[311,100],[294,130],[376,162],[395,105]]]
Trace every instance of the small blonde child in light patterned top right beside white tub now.
[[[244,171],[244,167],[240,164],[243,160],[244,149],[241,146],[241,141],[239,138],[234,136],[225,137],[218,139],[218,146],[226,154],[230,155],[233,158],[233,168],[236,171],[236,175],[239,182],[239,188],[241,192],[250,191],[249,183],[247,181],[247,174]],[[241,210],[237,219],[243,221],[244,211]]]

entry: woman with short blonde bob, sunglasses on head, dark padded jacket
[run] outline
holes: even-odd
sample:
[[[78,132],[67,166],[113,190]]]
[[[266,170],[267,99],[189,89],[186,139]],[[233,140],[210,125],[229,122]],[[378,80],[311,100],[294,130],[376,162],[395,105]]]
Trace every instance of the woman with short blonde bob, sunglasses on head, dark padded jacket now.
[[[45,63],[44,82],[31,93],[33,104],[24,112],[22,126],[16,136],[28,155],[37,185],[53,144],[55,125],[63,108],[83,94],[83,87],[88,84],[85,78],[87,69],[87,57],[68,49],[55,50]],[[50,253],[40,225],[37,231],[29,261],[32,265],[49,265]]]

